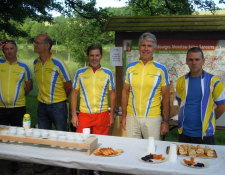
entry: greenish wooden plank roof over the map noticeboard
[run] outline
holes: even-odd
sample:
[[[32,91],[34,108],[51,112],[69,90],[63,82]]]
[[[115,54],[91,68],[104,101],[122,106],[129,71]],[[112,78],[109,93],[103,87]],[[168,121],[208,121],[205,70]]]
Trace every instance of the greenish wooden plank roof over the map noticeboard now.
[[[225,31],[225,15],[112,17],[103,31]]]

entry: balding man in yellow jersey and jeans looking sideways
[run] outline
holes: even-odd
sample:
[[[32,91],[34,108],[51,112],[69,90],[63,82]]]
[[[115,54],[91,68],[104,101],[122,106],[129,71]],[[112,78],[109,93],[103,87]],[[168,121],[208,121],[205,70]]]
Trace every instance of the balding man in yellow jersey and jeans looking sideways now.
[[[72,83],[68,68],[63,60],[54,56],[50,50],[52,39],[47,34],[40,34],[34,41],[34,52],[39,57],[34,60],[34,72],[38,84],[38,128],[67,131],[67,97],[70,95]],[[49,169],[48,165],[40,165],[35,169],[41,173]],[[70,169],[63,169],[69,174]]]

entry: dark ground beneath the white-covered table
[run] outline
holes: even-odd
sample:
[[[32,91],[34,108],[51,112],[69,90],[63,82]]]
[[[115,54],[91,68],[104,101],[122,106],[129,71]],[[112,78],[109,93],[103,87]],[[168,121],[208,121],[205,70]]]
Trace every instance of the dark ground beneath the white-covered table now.
[[[11,161],[0,159],[0,175],[34,175],[33,169],[36,164],[20,162],[20,170],[16,173],[11,171]],[[51,170],[47,170],[41,175],[58,175],[61,172],[60,167],[53,167]],[[72,173],[70,173],[72,175]],[[87,170],[80,170],[80,175],[88,175]],[[124,175],[122,173],[102,172],[102,175]]]

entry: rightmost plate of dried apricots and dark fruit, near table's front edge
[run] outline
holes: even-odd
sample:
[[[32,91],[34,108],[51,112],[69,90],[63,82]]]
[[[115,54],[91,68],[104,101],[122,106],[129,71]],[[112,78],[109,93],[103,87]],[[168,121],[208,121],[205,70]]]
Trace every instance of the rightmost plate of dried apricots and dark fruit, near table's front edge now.
[[[187,159],[181,160],[181,164],[189,168],[197,168],[197,169],[210,167],[210,163],[207,160],[198,158],[195,159],[194,157],[191,157],[190,160]]]

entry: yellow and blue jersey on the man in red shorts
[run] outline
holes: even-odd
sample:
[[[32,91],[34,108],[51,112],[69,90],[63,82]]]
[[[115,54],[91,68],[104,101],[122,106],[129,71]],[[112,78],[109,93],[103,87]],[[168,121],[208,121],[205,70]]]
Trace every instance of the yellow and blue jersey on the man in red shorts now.
[[[94,73],[91,67],[79,69],[73,88],[80,91],[80,111],[96,114],[108,110],[108,91],[114,89],[112,71],[101,67]]]

